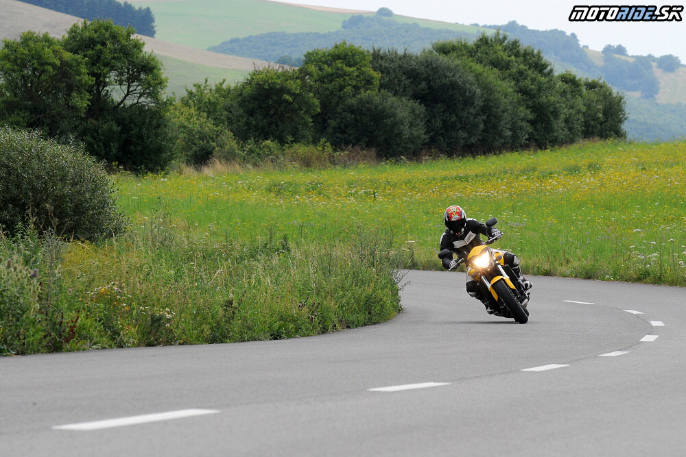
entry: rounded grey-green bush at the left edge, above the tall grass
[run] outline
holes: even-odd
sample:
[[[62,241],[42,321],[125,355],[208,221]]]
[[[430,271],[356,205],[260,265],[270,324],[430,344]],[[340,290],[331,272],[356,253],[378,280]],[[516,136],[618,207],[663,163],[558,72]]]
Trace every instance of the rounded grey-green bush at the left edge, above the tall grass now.
[[[4,230],[15,234],[33,224],[39,232],[91,241],[123,232],[113,182],[82,148],[0,127],[0,150]]]

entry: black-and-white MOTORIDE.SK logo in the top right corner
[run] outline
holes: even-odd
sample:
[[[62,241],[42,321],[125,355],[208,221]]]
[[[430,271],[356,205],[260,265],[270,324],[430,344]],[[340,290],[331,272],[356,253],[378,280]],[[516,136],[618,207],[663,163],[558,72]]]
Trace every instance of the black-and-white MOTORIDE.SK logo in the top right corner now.
[[[577,5],[571,9],[571,22],[681,22],[683,6],[678,5]]]

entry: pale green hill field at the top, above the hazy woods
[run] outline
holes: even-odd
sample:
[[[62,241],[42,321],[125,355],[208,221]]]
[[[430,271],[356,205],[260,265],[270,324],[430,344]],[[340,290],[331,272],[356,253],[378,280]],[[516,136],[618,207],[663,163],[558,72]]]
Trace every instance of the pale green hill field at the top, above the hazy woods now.
[[[271,1],[142,1],[155,15],[156,38],[206,49],[231,38],[267,32],[334,32],[351,13],[324,12]],[[394,16],[423,27],[475,32],[479,27]],[[484,29],[488,30],[488,29]],[[489,33],[493,32],[488,30]]]

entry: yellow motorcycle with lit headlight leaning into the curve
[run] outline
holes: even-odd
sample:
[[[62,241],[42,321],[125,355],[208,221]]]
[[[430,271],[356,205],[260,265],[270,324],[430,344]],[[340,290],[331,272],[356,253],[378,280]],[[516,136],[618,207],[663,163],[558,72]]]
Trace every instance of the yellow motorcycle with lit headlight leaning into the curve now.
[[[498,220],[495,217],[486,221],[488,227],[493,227],[497,223]],[[484,245],[473,247],[466,259],[458,259],[458,264],[464,262],[466,273],[486,286],[500,306],[499,314],[503,317],[512,318],[518,323],[527,323],[529,312],[526,305],[529,301],[529,294],[524,284],[509,265],[505,264],[502,252],[488,247],[501,236],[502,233],[493,238],[488,238]],[[444,256],[451,255],[452,252],[449,249],[444,249],[441,254]]]

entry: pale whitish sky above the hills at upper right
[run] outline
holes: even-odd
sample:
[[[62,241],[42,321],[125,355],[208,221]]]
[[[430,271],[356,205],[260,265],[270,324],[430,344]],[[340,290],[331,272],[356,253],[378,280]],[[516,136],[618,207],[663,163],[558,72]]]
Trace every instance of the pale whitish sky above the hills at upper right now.
[[[602,51],[605,45],[622,45],[629,55],[657,57],[673,54],[686,64],[686,9],[682,22],[569,22],[574,1],[513,1],[513,0],[286,0],[303,5],[350,8],[376,11],[390,8],[394,14],[417,18],[435,19],[460,24],[501,25],[517,21],[530,29],[560,29],[567,34],[575,33],[581,45]],[[613,3],[589,3],[589,5]],[[621,4],[621,3],[620,3]],[[628,3],[637,4],[637,3]],[[685,5],[681,3],[650,3],[657,5]]]

